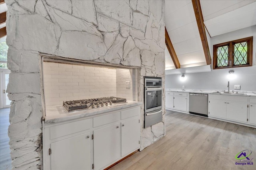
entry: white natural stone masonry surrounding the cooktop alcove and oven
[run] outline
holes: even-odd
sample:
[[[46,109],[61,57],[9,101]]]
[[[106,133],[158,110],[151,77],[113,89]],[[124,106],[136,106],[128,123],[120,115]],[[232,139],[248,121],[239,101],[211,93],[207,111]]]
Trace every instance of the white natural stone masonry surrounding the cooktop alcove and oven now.
[[[139,66],[139,101],[144,101],[143,76],[158,76],[165,81],[164,0],[5,2],[11,70],[7,92],[12,100],[8,134],[14,169],[42,168],[40,53]],[[163,108],[164,101],[163,95]],[[164,113],[163,122],[144,129],[142,106],[141,150],[165,135]]]

